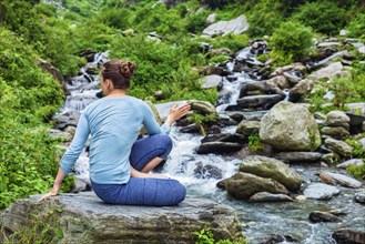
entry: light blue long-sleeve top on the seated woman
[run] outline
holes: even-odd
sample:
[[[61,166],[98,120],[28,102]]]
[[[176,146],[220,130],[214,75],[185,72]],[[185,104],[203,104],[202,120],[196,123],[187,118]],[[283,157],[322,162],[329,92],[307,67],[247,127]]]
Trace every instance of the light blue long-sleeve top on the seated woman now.
[[[131,175],[129,156],[142,125],[150,135],[168,134],[152,110],[133,96],[103,98],[87,106],[79,119],[74,138],[61,159],[60,166],[69,174],[91,134],[89,151],[90,179],[98,184],[123,184]]]

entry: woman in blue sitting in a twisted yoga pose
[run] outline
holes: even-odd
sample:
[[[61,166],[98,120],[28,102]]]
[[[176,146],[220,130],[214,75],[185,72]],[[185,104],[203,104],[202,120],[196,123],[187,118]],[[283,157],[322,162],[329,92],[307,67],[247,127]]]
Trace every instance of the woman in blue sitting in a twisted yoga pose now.
[[[90,180],[95,194],[107,203],[129,205],[175,205],[186,190],[162,174],[149,174],[166,159],[172,142],[170,126],[190,110],[174,105],[160,128],[149,105],[126,95],[134,64],[112,60],[103,64],[101,89],[105,95],[81,113],[72,143],[64,153],[52,190],[39,201],[59,193],[84,143],[91,134]],[[142,124],[150,136],[138,140]]]

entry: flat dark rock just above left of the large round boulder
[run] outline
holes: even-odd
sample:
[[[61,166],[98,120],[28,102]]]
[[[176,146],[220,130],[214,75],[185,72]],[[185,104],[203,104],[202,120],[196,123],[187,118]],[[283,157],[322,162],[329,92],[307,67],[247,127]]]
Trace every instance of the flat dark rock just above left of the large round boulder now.
[[[237,104],[242,108],[272,106],[283,100],[278,94],[268,95],[249,95],[237,100]]]

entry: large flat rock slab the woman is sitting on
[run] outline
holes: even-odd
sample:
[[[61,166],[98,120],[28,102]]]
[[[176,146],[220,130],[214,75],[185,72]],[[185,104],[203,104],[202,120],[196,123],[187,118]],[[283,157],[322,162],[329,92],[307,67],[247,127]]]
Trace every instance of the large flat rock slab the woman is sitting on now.
[[[192,233],[206,227],[216,238],[242,237],[234,210],[206,199],[186,197],[178,206],[153,207],[105,204],[93,192],[60,194],[44,203],[38,203],[39,197],[21,200],[2,212],[1,227],[33,231],[34,218],[45,220],[48,231],[63,233],[53,240],[59,243],[193,243]]]

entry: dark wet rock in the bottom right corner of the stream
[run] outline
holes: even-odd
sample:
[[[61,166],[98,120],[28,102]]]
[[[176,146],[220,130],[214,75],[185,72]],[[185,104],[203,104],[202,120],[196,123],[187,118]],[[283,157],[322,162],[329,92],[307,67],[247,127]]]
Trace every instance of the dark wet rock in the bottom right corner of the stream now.
[[[332,234],[337,244],[364,244],[365,231],[339,228]]]

